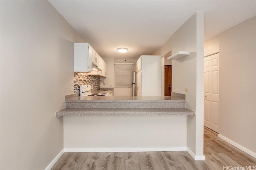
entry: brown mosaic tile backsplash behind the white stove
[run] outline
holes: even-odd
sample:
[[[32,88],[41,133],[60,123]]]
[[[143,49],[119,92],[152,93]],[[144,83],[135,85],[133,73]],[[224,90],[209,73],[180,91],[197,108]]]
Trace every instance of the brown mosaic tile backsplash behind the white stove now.
[[[74,93],[80,92],[80,86],[91,84],[93,88],[98,88],[100,77],[87,75],[86,72],[74,72]]]

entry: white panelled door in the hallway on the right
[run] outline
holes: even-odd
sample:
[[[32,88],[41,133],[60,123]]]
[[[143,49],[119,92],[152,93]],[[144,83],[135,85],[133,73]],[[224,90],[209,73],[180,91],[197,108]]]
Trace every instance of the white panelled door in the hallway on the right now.
[[[218,133],[219,53],[204,58],[204,126]]]

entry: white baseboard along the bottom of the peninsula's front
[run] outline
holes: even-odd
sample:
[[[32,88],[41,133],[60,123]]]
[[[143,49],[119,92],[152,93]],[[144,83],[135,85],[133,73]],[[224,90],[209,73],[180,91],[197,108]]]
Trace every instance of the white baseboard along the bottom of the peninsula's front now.
[[[66,148],[64,152],[161,152],[185,151],[186,147],[174,148]]]

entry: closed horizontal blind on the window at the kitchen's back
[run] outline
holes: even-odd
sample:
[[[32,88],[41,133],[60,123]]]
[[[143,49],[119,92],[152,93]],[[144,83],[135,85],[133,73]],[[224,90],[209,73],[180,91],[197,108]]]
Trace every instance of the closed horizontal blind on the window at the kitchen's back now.
[[[115,63],[115,87],[132,88],[134,63]]]

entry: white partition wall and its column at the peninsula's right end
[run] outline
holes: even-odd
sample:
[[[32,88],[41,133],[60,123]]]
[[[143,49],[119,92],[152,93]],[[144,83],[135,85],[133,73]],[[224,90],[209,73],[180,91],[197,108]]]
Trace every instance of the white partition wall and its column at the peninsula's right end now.
[[[188,117],[188,149],[196,159],[203,156],[203,33],[204,14],[197,12],[184,23],[154,55],[169,51],[190,51],[190,55],[172,61],[172,87],[186,94],[186,108],[196,111]],[[164,59],[162,58],[162,63]],[[164,64],[162,64],[163,66]],[[163,70],[163,69],[162,69]],[[163,76],[162,76],[163,78]],[[164,78],[162,79],[162,82]],[[188,88],[188,93],[184,89]]]

